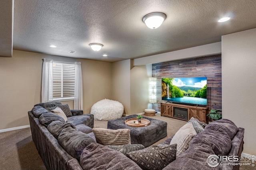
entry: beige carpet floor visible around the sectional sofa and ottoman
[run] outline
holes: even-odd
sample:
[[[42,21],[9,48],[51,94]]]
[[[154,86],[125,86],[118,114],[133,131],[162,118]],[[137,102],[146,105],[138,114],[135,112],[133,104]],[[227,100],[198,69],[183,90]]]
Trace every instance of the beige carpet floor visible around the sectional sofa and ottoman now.
[[[142,115],[144,116],[144,115]],[[154,143],[162,143],[182,127],[186,121],[169,117],[144,116],[166,121],[167,137]],[[108,121],[94,121],[95,128],[107,128]],[[253,170],[252,166],[240,166],[240,170]],[[30,128],[0,133],[0,170],[46,170],[32,141]]]

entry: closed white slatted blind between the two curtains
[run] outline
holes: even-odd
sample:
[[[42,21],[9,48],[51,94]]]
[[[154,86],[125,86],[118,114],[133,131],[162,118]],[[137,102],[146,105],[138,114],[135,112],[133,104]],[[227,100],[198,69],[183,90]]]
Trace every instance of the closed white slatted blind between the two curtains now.
[[[74,99],[75,64],[53,62],[53,100]]]

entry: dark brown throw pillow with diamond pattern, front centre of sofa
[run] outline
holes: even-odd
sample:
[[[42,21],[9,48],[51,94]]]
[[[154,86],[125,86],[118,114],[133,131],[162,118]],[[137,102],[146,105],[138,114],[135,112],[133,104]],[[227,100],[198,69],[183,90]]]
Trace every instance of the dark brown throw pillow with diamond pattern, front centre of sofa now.
[[[127,153],[143,170],[162,170],[176,159],[177,145],[151,146]]]

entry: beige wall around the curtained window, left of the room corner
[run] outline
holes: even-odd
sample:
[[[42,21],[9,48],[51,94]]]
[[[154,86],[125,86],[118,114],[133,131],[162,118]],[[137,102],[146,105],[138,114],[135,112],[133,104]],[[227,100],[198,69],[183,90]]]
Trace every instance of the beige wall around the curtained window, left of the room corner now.
[[[111,98],[111,63],[14,50],[13,57],[0,57],[0,130],[29,125],[27,112],[41,100],[44,58],[82,63],[84,113]]]

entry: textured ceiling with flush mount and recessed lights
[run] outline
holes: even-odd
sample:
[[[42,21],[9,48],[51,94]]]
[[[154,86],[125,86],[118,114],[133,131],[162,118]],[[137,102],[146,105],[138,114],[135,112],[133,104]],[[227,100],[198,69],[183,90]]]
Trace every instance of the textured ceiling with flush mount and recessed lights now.
[[[108,62],[135,59],[255,28],[255,9],[256,0],[14,0],[13,49]],[[167,16],[157,29],[142,22],[151,12]],[[229,21],[217,22],[227,15]],[[104,46],[95,52],[90,43]]]

